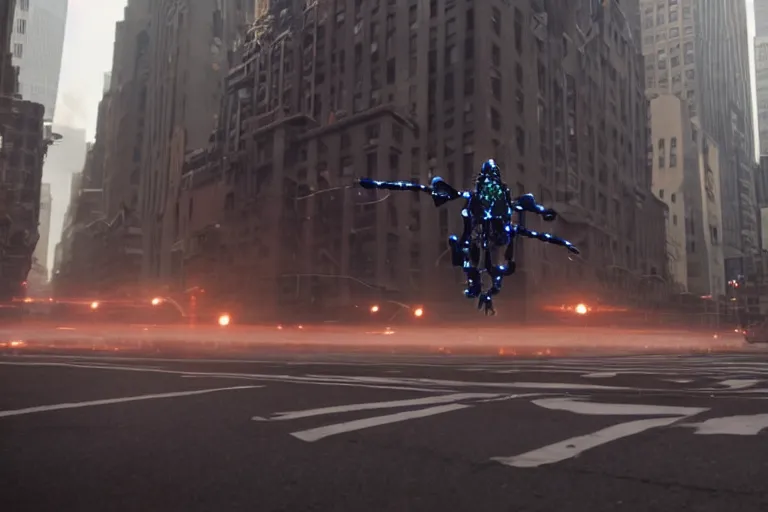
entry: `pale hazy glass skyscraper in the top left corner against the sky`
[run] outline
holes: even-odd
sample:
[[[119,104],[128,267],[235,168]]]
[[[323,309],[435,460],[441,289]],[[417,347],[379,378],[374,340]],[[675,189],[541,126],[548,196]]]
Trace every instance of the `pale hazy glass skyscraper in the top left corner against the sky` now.
[[[12,37],[19,93],[45,107],[53,120],[69,0],[17,0]]]

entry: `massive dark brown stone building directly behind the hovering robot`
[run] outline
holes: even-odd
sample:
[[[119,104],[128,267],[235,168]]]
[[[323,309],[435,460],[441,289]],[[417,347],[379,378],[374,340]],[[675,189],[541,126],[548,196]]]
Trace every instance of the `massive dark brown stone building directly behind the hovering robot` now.
[[[439,300],[458,211],[348,184],[440,174],[470,187],[491,157],[513,192],[561,212],[551,229],[583,249],[573,262],[527,243],[520,296],[573,300],[557,287],[568,282],[626,299],[666,274],[663,224],[651,233],[645,222],[665,207],[650,191],[642,59],[617,3],[260,5],[227,83],[223,154],[206,149],[189,166],[190,187],[193,169],[223,167],[222,227],[186,235],[192,246],[217,240],[206,243],[219,261],[209,283],[222,293],[237,290],[263,315],[348,308],[371,283]],[[175,206],[182,226],[198,204]],[[453,275],[455,290],[463,276]]]

